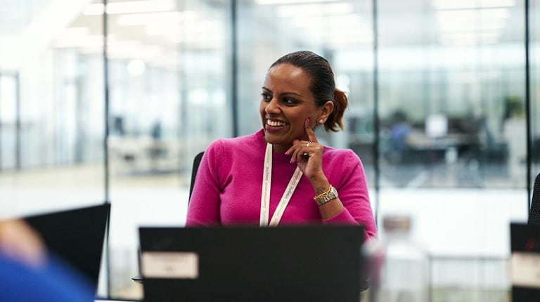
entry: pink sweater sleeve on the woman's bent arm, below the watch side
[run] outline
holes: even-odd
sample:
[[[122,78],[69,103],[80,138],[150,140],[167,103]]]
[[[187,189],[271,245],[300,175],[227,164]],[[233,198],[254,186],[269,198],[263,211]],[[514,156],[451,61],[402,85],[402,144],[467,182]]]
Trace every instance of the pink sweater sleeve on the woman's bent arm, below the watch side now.
[[[333,218],[323,220],[323,223],[360,224],[366,228],[366,239],[376,236],[375,219],[369,202],[368,185],[364,174],[364,167],[359,157],[349,150],[344,166],[347,171],[343,173],[338,190],[343,211]]]

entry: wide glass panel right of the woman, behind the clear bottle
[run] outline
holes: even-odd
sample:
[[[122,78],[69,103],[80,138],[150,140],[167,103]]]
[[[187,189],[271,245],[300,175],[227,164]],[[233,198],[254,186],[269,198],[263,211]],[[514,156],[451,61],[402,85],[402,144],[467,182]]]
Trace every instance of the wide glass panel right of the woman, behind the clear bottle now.
[[[527,218],[524,2],[378,4],[380,217],[409,214],[435,261],[506,258]],[[440,295],[463,270],[432,273]],[[438,301],[484,285],[452,286]]]

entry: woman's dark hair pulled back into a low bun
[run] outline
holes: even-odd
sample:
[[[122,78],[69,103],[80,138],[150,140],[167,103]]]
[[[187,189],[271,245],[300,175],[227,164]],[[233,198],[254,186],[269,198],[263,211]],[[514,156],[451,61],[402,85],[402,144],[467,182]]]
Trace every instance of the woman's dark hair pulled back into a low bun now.
[[[348,100],[343,91],[335,88],[334,72],[328,60],[311,51],[295,51],[278,58],[270,68],[280,64],[299,67],[309,75],[311,78],[309,91],[313,93],[317,106],[322,106],[329,100],[334,103],[334,110],[326,119],[324,129],[335,132],[343,129],[342,118]]]

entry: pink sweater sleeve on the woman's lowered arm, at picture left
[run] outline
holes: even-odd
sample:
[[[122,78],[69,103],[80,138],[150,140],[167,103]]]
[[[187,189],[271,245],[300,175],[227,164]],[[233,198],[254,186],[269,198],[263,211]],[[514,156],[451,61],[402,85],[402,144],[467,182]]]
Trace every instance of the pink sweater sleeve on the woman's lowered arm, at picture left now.
[[[221,224],[219,207],[222,185],[219,179],[219,158],[223,151],[221,140],[216,140],[205,151],[195,177],[193,194],[188,204],[186,226]]]

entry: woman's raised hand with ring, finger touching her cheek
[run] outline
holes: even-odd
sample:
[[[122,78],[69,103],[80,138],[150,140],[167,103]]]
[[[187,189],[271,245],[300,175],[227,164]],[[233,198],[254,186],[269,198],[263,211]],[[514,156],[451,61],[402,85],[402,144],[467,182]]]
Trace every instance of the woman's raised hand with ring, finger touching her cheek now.
[[[304,122],[309,141],[293,140],[285,155],[292,155],[290,162],[296,162],[300,171],[313,182],[317,178],[326,178],[323,173],[323,145],[319,143],[315,132],[309,126],[309,119]]]

